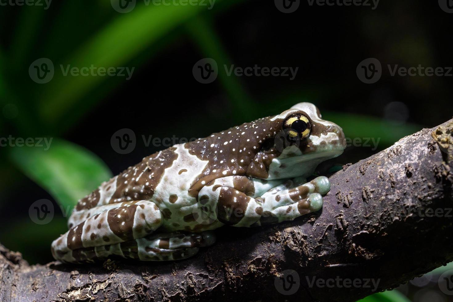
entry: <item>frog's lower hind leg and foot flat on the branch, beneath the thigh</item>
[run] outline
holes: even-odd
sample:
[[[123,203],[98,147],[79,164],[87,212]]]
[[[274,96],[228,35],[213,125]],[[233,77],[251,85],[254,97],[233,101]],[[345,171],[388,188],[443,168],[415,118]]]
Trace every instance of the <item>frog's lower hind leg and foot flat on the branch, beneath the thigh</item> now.
[[[186,259],[197,254],[200,247],[211,245],[214,241],[215,237],[212,231],[153,234],[121,243],[73,250],[73,261],[71,262],[94,262],[110,256],[141,261]]]

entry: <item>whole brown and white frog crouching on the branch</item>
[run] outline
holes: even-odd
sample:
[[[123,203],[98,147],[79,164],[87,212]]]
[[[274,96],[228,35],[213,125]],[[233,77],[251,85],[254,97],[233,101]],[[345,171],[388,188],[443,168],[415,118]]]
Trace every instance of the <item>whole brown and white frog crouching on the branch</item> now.
[[[175,144],[80,199],[52,255],[77,264],[180,260],[214,244],[220,227],[293,221],[322,209],[329,179],[307,178],[345,148],[342,128],[308,102]]]

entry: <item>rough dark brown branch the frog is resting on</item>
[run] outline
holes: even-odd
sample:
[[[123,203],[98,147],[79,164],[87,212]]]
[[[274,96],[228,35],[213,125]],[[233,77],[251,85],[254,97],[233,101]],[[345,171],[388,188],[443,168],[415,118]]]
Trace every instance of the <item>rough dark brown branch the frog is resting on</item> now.
[[[0,301],[354,301],[394,288],[453,261],[452,153],[453,120],[423,129],[331,176],[321,213],[224,227],[183,261],[29,266],[0,246]],[[292,295],[275,285],[287,269]]]

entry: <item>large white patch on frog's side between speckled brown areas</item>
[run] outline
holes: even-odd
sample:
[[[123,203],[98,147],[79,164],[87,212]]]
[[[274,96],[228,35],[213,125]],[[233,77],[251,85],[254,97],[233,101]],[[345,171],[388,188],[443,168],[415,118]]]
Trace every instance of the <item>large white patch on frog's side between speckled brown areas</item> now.
[[[178,158],[171,167],[165,169],[152,199],[156,201],[161,210],[195,204],[197,199],[191,197],[188,190],[191,183],[197,179],[209,163],[207,160],[200,160],[196,155],[190,154],[189,150],[184,148],[184,144],[178,144],[175,147],[174,152],[178,154]],[[180,171],[184,171],[184,173],[179,173]],[[173,203],[170,202],[170,199],[174,200],[174,196],[172,197],[174,194],[178,196],[178,199]]]

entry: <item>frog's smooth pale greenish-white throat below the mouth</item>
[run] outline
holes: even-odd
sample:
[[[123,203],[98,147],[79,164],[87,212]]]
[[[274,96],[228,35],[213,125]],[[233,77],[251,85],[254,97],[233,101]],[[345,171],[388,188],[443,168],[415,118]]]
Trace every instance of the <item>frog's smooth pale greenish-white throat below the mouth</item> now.
[[[269,166],[270,179],[308,177],[313,174],[318,164],[336,158],[343,150],[308,153],[287,158],[274,158]]]

